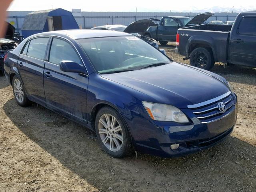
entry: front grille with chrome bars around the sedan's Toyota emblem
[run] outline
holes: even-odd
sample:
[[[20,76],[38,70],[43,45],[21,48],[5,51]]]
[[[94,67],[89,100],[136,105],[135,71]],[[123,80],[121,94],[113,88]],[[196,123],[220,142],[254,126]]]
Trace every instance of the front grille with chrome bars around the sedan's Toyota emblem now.
[[[218,104],[223,102],[226,106],[225,112],[220,112]],[[227,92],[220,97],[209,100],[209,102],[203,102],[201,104],[195,104],[188,106],[195,114],[195,116],[202,123],[208,123],[216,121],[224,116],[230,114],[235,109],[234,97],[231,92]]]

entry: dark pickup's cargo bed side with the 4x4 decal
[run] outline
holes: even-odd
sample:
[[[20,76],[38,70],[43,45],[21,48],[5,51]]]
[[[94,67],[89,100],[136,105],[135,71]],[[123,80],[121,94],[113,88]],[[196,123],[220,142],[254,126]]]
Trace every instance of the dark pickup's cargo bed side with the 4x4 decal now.
[[[179,54],[189,58],[194,48],[204,46],[212,47],[215,60],[226,62],[226,52],[228,38],[230,36],[231,25],[198,25],[186,27],[178,30],[180,38],[178,50]],[[189,42],[188,42],[189,41]]]

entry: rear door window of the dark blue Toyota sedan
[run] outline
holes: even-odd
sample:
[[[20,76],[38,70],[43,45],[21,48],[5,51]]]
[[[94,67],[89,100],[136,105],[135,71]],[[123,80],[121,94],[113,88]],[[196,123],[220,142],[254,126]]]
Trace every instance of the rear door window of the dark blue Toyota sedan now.
[[[49,37],[40,37],[30,40],[27,56],[43,60],[48,40]]]

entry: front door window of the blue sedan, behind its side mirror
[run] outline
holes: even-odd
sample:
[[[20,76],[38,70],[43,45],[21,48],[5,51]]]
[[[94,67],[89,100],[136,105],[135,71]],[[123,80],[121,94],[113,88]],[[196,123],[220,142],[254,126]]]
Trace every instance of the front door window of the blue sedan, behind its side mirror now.
[[[61,61],[68,60],[82,64],[74,48],[65,40],[54,38],[50,49],[49,62],[59,65]]]

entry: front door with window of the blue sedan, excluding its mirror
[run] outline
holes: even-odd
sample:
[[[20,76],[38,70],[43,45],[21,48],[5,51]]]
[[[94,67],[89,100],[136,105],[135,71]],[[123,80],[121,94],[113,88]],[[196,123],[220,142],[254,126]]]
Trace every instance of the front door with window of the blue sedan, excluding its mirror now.
[[[82,64],[74,46],[63,38],[51,40],[44,69],[46,103],[58,112],[77,120],[86,120],[88,75],[60,70],[62,60]]]

